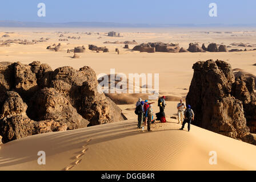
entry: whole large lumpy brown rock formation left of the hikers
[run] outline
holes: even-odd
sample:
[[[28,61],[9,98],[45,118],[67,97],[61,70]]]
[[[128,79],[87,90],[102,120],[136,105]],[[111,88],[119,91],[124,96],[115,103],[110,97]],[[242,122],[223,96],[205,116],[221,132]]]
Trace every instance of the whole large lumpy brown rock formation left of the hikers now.
[[[39,61],[0,62],[0,135],[3,143],[34,134],[73,130],[126,119],[104,93],[95,72]]]

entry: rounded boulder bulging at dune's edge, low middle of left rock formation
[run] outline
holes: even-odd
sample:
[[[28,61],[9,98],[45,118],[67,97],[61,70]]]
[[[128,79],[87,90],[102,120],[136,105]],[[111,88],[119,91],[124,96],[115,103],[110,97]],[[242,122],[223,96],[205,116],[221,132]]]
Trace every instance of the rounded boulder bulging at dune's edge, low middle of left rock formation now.
[[[67,130],[79,129],[89,124],[89,121],[77,113],[69,100],[54,88],[39,90],[31,98],[30,107],[30,118],[36,121],[57,121],[61,126],[67,126]]]

